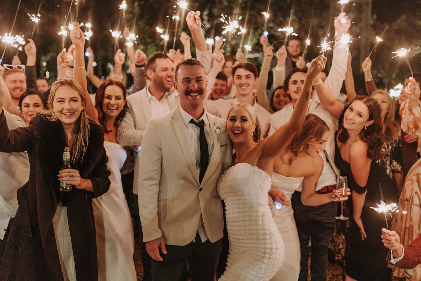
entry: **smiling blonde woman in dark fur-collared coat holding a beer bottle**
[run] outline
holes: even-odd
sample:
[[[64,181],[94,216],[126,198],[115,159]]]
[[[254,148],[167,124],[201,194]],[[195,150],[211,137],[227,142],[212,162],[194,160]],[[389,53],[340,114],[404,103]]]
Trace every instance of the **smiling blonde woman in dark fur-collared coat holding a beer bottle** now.
[[[0,89],[0,151],[27,151],[30,174],[18,190],[0,279],[98,280],[92,199],[110,182],[104,134],[86,114],[82,88],[72,79],[56,81],[49,109],[15,130],[1,109],[4,95]],[[64,147],[72,169],[60,169]],[[60,192],[60,181],[72,190]]]

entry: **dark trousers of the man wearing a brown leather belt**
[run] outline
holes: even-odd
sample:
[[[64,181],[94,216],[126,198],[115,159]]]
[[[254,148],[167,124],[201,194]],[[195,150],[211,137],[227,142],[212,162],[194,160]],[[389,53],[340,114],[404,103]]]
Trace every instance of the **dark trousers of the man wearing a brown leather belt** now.
[[[337,206],[337,202],[320,206],[304,206],[301,202],[301,192],[293,193],[292,208],[301,249],[301,270],[298,281],[307,280],[310,240],[312,247],[311,280],[326,281],[328,245],[335,232]]]

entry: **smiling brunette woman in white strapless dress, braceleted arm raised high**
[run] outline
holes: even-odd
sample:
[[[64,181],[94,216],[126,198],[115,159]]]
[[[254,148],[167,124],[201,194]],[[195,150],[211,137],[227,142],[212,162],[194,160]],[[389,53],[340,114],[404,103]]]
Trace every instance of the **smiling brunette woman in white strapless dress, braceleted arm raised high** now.
[[[75,45],[75,64],[83,64],[83,32],[77,27],[71,32]],[[74,77],[83,85],[85,95],[86,75],[84,69],[75,67]],[[93,118],[98,118],[104,131],[104,147],[108,156],[107,168],[111,172],[109,191],[93,200],[99,280],[136,280],[133,262],[134,235],[130,211],[123,193],[120,169],[126,160],[125,149],[117,143],[117,127],[125,115],[127,91],[119,80],[107,79],[96,91],[95,107],[91,99],[87,108]]]

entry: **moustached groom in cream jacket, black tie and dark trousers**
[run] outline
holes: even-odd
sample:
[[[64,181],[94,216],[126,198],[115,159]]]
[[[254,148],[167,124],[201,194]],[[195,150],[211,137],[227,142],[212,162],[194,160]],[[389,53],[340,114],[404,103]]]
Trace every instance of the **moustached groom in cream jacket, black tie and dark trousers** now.
[[[179,62],[180,105],[152,118],[140,153],[139,213],[155,281],[179,280],[189,259],[192,281],[213,281],[221,253],[216,184],[231,166],[225,122],[206,112],[206,73],[197,59]]]

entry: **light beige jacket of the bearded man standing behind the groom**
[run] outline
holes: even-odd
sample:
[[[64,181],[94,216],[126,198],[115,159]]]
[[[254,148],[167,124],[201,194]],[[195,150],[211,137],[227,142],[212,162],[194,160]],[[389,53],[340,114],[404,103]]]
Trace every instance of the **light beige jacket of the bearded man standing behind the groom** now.
[[[146,87],[137,93],[127,96],[126,100],[126,115],[118,127],[117,142],[123,146],[141,145],[147,121],[152,118]],[[168,94],[168,105],[171,110],[176,108],[179,103],[180,97],[177,91]],[[139,185],[139,153],[135,153],[134,158],[133,193],[137,194],[137,186]]]

